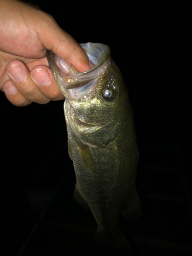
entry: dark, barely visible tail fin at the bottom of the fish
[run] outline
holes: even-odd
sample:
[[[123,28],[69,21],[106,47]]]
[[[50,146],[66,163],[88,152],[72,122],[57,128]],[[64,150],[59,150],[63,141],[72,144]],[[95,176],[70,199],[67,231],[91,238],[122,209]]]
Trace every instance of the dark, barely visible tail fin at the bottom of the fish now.
[[[131,244],[120,229],[109,236],[97,230],[94,239],[94,255],[133,256],[134,252]]]

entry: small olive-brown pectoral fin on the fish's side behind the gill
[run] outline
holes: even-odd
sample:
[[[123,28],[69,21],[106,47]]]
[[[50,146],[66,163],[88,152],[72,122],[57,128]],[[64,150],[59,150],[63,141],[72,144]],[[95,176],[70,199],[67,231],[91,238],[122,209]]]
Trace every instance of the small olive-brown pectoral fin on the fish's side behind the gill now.
[[[89,150],[89,146],[79,143],[78,144],[79,147],[79,153],[80,153],[80,157],[82,159],[83,165],[91,172],[91,173],[95,173],[97,170],[95,161],[91,155],[91,152]]]

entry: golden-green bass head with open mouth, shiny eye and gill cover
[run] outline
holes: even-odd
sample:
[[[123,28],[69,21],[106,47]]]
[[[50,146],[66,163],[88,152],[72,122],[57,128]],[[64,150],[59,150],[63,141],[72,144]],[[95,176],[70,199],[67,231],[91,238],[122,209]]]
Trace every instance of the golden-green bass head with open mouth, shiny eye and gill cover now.
[[[71,130],[83,144],[105,147],[117,136],[126,116],[123,111],[128,93],[121,72],[111,59],[110,48],[91,43],[81,46],[95,65],[83,73],[72,65],[63,69],[63,60],[52,52],[47,57],[66,97],[65,115]]]

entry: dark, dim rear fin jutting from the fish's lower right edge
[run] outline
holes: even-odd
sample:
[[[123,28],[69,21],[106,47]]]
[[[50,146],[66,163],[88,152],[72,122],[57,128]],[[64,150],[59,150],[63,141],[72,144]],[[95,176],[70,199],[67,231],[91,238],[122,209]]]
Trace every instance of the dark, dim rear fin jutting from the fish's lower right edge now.
[[[137,220],[141,217],[141,203],[139,200],[139,195],[137,190],[135,190],[135,194],[129,201],[128,205],[122,210],[122,215],[126,220]]]

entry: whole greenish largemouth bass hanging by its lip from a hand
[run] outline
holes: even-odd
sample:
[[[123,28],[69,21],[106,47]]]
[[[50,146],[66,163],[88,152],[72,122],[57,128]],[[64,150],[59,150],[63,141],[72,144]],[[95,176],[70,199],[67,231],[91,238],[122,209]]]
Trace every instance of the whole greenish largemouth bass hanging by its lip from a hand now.
[[[54,78],[65,95],[68,152],[76,185],[74,200],[90,208],[97,222],[94,248],[109,255],[133,255],[119,228],[141,216],[135,186],[138,146],[129,92],[109,46],[80,44],[92,69],[79,73],[47,50]]]

